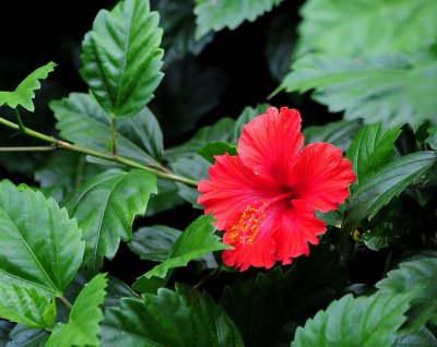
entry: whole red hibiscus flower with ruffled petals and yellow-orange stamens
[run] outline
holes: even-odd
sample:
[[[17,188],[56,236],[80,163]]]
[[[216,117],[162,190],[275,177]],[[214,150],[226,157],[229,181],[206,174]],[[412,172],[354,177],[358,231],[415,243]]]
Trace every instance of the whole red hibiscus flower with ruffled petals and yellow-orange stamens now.
[[[356,177],[352,163],[329,143],[303,147],[300,115],[271,107],[243,129],[238,156],[215,156],[199,203],[224,230],[226,265],[272,267],[309,254],[324,222],[315,211],[336,210]]]

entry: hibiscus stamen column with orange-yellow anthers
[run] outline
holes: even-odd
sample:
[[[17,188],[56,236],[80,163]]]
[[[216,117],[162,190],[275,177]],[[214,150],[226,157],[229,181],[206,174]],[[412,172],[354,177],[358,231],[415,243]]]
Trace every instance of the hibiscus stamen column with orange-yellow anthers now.
[[[292,195],[293,192],[287,192],[264,201],[262,204],[256,203],[255,206],[248,205],[241,213],[238,223],[233,225],[229,229],[231,243],[252,244],[257,239],[261,225],[267,217],[265,210],[274,203],[291,199]]]

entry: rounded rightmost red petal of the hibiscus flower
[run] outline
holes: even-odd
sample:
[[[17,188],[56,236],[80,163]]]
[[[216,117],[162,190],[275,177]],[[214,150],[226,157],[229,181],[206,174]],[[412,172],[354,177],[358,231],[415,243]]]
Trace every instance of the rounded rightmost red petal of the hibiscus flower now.
[[[336,210],[344,203],[350,195],[349,187],[356,179],[351,160],[329,143],[305,146],[290,176],[296,199],[322,212]]]

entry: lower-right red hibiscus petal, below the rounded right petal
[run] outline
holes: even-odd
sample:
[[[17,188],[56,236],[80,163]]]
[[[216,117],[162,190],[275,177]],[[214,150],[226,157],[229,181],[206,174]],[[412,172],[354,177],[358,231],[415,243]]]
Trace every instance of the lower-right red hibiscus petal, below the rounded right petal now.
[[[309,243],[318,244],[318,235],[327,230],[324,222],[317,219],[311,205],[303,200],[293,200],[292,206],[281,212],[280,227],[273,235],[276,260],[291,264],[293,258],[309,255]]]

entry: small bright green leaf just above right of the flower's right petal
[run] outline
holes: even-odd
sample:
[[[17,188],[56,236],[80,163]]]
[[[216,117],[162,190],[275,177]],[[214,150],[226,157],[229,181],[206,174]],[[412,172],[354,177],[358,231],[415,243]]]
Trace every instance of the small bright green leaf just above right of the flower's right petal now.
[[[399,128],[385,133],[380,123],[364,127],[359,131],[346,154],[357,175],[355,186],[358,186],[369,174],[393,160],[394,141],[400,134]]]

